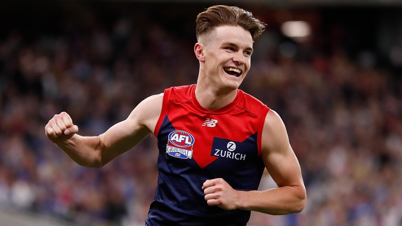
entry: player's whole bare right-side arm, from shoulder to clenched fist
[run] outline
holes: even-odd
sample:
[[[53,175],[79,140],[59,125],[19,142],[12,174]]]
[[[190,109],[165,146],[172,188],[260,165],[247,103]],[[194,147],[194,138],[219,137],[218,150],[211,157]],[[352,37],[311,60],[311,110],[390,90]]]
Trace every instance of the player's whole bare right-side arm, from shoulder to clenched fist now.
[[[207,180],[202,189],[208,205],[272,215],[301,212],[306,204],[306,189],[300,165],[289,144],[282,119],[272,110],[265,118],[261,157],[277,188],[262,192],[236,191],[221,178]]]

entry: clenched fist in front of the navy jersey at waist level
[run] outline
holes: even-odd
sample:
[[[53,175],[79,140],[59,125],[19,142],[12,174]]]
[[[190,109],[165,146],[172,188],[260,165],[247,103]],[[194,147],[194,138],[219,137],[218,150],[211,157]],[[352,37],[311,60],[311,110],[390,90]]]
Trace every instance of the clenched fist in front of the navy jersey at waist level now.
[[[207,180],[202,189],[209,206],[217,205],[224,210],[238,208],[239,191],[233,189],[224,179]]]

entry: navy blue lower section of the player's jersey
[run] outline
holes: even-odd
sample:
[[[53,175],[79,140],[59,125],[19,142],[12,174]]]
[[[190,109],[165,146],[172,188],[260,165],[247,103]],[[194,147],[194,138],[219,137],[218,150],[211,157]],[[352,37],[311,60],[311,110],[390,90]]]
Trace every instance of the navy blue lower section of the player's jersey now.
[[[146,224],[245,226],[250,218],[250,211],[226,211],[216,206],[210,207],[204,199],[201,188],[207,179],[223,178],[234,189],[256,190],[264,167],[258,157],[257,134],[253,134],[243,142],[214,138],[211,155],[214,156],[216,149],[222,150],[222,154],[201,169],[193,158],[175,158],[166,153],[168,135],[175,130],[166,115],[158,131],[158,187]],[[229,142],[236,145],[234,150],[233,145],[228,145]],[[224,151],[226,154],[223,154]],[[231,154],[227,154],[228,152]]]

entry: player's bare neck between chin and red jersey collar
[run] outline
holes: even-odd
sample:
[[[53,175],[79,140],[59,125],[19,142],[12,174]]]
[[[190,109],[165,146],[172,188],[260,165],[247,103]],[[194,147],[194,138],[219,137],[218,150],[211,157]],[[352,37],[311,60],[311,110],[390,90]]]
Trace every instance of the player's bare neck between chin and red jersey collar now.
[[[207,86],[197,82],[195,97],[198,103],[205,109],[215,110],[232,103],[237,95],[235,90],[222,90],[213,86]]]

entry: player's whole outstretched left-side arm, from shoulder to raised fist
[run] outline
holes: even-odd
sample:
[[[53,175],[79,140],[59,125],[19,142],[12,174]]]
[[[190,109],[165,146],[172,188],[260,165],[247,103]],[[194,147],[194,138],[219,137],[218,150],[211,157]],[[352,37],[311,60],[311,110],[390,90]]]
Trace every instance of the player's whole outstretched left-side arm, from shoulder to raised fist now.
[[[130,150],[153,132],[162,109],[163,94],[148,97],[131,112],[129,117],[104,134],[83,137],[76,134],[78,127],[71,117],[62,112],[45,126],[47,138],[81,166],[99,168]]]

